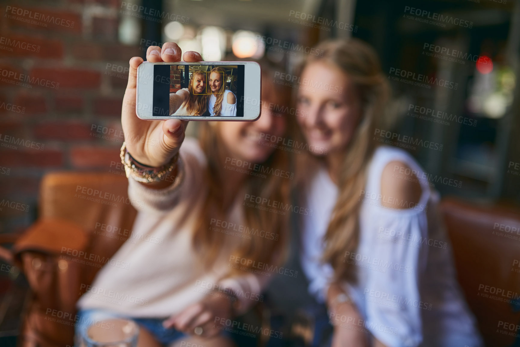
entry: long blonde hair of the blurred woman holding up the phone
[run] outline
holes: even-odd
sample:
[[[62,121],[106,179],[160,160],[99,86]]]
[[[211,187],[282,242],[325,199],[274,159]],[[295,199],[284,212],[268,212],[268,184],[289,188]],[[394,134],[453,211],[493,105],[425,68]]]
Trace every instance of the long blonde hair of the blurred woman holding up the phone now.
[[[263,69],[269,69],[266,63],[261,63],[261,65]],[[277,86],[277,88],[282,89],[284,87]],[[280,94],[287,95],[287,99],[289,99],[289,93],[280,92]],[[208,191],[198,224],[193,230],[192,238],[196,250],[204,254],[207,267],[210,267],[217,258],[225,239],[223,234],[212,232],[210,228],[211,219],[226,220],[226,216],[235,202],[234,198],[226,200],[225,192],[223,191],[223,180],[225,177],[222,176],[222,168],[229,153],[225,149],[222,140],[223,135],[218,129],[222,122],[215,122],[216,124],[213,125],[209,123],[201,122],[199,125],[199,143],[207,158],[205,180]],[[261,165],[288,171],[289,158],[287,152],[274,150]],[[274,201],[280,201],[282,204],[288,204],[291,189],[290,182],[290,179],[277,175],[267,175],[267,178],[248,175],[245,178],[243,187],[245,188],[245,194],[265,197]],[[252,236],[249,240],[242,238],[241,245],[231,255],[256,262],[242,266],[246,268],[253,268],[259,262],[269,264],[269,266],[280,265],[284,256],[287,255],[285,245],[288,238],[288,216],[249,208],[243,204],[241,209],[245,217],[245,226],[264,230],[277,236],[273,239],[259,236]],[[244,274],[243,269],[234,269],[232,267],[230,268],[230,273]]]

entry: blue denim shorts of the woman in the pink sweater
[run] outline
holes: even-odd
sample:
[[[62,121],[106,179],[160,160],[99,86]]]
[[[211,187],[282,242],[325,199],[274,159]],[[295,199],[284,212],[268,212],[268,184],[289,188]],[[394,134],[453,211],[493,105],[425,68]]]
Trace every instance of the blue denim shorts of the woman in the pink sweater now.
[[[76,346],[80,345],[79,338],[85,336],[90,325],[94,324],[95,322],[102,322],[103,320],[112,318],[125,318],[134,320],[134,322],[136,322],[139,327],[144,327],[146,330],[148,330],[155,338],[155,340],[159,341],[161,344],[170,344],[186,336],[184,332],[178,331],[176,329],[164,328],[162,326],[162,322],[166,318],[134,318],[98,309],[80,310],[77,315],[78,320],[75,326]]]

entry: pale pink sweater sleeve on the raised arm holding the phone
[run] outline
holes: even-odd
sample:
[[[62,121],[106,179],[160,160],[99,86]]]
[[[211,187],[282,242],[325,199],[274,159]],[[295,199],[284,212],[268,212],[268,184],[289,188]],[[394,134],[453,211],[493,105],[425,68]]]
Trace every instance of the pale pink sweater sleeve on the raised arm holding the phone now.
[[[206,165],[204,152],[197,139],[185,138],[179,150],[178,174],[164,189],[151,189],[128,178],[128,197],[138,211],[167,212],[182,199],[199,194],[203,187]]]

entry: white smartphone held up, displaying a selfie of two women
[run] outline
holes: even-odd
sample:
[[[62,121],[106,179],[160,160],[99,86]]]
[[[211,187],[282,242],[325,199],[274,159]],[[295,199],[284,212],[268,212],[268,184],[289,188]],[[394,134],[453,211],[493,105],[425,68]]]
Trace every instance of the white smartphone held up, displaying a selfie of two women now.
[[[137,117],[255,121],[261,69],[254,61],[143,62],[137,68]]]

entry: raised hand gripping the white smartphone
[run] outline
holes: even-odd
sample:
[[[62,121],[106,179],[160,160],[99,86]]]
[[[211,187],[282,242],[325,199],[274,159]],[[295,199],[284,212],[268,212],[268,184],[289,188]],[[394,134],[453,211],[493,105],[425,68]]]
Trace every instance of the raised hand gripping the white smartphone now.
[[[150,62],[175,62],[180,61],[180,47],[173,42],[165,43],[162,48],[150,46],[146,52],[146,59]],[[201,61],[202,57],[197,52],[184,53],[184,61]],[[128,72],[128,84],[123,97],[123,110],[121,123],[125,135],[126,149],[138,162],[160,167],[170,161],[178,152],[184,140],[184,132],[187,121],[178,119],[148,121],[137,117],[136,86],[137,67],[143,62],[140,57],[130,59]],[[170,183],[160,182],[147,184],[153,186],[167,186]]]

